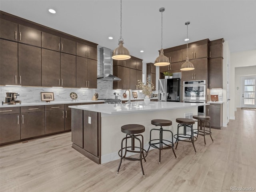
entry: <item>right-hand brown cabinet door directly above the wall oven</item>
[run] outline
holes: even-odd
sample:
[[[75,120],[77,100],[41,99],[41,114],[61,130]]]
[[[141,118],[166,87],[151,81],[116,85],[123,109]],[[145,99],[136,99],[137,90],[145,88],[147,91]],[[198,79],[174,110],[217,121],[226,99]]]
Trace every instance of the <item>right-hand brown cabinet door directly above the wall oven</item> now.
[[[208,58],[194,60],[194,80],[208,80]]]

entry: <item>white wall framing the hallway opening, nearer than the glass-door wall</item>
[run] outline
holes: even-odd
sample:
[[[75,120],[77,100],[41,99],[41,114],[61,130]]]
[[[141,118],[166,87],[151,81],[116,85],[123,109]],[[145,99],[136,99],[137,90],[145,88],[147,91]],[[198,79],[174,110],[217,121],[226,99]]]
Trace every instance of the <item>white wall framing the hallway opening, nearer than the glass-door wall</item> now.
[[[230,54],[230,119],[235,118],[236,111],[236,76],[235,68],[255,66],[256,49]],[[240,87],[240,85],[239,85]]]

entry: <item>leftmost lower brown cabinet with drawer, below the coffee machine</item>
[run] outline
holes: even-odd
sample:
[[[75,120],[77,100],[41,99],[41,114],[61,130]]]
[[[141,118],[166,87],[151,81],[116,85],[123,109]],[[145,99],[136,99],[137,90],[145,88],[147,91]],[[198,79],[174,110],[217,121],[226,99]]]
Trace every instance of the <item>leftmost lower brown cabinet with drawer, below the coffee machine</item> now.
[[[20,140],[20,108],[0,108],[0,144]]]

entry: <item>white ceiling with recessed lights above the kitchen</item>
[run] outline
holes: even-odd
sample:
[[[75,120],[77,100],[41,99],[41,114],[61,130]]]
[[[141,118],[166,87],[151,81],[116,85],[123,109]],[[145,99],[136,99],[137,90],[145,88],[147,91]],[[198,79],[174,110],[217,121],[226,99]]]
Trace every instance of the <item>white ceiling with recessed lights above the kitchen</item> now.
[[[163,48],[185,44],[190,21],[189,42],[224,38],[231,52],[256,49],[256,0],[122,0],[124,46],[144,63],[154,62],[161,48],[161,7]],[[0,0],[0,10],[112,50],[118,46],[120,0]]]

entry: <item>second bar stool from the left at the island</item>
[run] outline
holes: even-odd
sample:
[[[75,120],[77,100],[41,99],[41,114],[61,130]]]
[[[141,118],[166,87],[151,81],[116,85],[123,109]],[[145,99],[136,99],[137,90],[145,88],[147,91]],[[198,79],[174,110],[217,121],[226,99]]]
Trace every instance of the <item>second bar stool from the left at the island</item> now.
[[[150,149],[151,146],[159,150],[159,164],[161,164],[161,150],[164,150],[164,149],[172,149],[172,151],[174,153],[174,156],[177,159],[177,156],[176,156],[176,154],[174,152],[174,149],[173,149],[174,148],[173,133],[172,133],[171,130],[164,130],[162,128],[162,126],[170,126],[170,125],[172,125],[172,121],[164,120],[164,119],[153,119],[153,120],[151,120],[151,124],[155,125],[155,126],[160,126],[160,129],[151,129],[150,130],[150,138],[149,138],[149,142],[148,142],[148,144],[149,144],[148,150]],[[157,131],[160,132],[159,133],[159,139],[152,139],[151,140],[151,132],[153,130],[157,130]],[[163,139],[163,132],[164,131],[171,133],[172,141]],[[156,142],[152,143],[154,141],[156,141]],[[168,142],[168,144],[166,144],[165,142]],[[156,146],[158,144],[159,144],[159,147]],[[163,148],[163,146],[164,146],[164,148]],[[147,150],[147,152],[148,152],[148,150]]]

